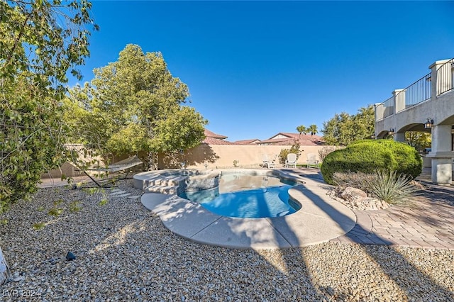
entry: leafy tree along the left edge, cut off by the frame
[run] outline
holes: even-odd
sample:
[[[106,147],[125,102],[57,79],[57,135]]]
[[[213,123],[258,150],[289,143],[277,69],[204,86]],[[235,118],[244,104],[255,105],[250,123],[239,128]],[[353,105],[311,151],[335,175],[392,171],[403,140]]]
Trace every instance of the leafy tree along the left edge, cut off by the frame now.
[[[80,78],[75,67],[89,55],[90,8],[85,0],[0,0],[0,213],[71,155],[60,100],[67,73]],[[0,285],[10,278],[0,267]]]

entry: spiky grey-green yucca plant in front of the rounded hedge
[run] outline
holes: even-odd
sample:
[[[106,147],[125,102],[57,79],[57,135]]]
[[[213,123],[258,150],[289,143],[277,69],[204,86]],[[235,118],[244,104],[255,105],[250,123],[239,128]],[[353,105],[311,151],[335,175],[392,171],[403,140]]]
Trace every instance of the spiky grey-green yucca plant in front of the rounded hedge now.
[[[411,177],[397,175],[395,171],[379,171],[376,177],[369,181],[370,192],[373,196],[391,204],[406,204],[417,195],[418,189],[411,184]]]

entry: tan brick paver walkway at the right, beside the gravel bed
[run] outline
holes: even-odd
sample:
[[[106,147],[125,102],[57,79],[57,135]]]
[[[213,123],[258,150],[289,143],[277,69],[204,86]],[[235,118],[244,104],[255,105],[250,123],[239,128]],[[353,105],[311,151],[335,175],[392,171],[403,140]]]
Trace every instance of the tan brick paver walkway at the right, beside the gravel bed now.
[[[355,211],[355,228],[331,241],[454,250],[454,188],[426,186],[411,206]]]

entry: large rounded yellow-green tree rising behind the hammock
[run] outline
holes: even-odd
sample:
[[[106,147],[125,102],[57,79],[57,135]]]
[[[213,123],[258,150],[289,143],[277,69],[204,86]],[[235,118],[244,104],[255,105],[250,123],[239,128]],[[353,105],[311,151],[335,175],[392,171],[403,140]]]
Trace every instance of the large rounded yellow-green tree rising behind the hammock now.
[[[71,89],[66,104],[77,113],[74,137],[89,144],[99,138],[103,143],[92,147],[102,154],[144,151],[153,169],[158,153],[181,152],[204,139],[206,120],[184,106],[187,85],[172,77],[160,52],[126,45],[116,62],[94,69],[94,76],[90,84]]]

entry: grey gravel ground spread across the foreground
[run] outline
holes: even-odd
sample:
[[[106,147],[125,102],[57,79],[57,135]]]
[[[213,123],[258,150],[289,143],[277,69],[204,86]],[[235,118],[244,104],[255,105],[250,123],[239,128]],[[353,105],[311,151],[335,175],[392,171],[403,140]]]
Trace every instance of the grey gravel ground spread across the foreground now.
[[[119,189],[140,194],[131,180]],[[9,220],[0,246],[25,277],[0,287],[0,301],[454,301],[452,250],[334,242],[230,250],[172,234],[139,199],[107,194],[101,206],[104,196],[40,189],[0,215]],[[77,259],[66,261],[68,251]]]

